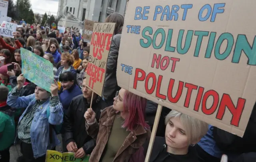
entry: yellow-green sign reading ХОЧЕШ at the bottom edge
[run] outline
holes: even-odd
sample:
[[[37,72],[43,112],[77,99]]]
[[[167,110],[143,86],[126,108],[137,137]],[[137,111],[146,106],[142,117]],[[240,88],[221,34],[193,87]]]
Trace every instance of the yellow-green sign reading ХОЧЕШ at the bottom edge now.
[[[46,162],[88,162],[90,156],[84,156],[83,158],[75,158],[74,152],[58,152],[53,150],[47,150]]]

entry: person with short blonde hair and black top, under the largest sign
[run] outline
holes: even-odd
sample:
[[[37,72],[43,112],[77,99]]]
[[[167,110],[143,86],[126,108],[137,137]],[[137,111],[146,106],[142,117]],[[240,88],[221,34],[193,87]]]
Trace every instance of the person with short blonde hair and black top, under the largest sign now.
[[[172,110],[165,118],[165,137],[156,137],[150,162],[198,162],[193,147],[208,131],[208,124]],[[149,140],[130,158],[144,162]]]

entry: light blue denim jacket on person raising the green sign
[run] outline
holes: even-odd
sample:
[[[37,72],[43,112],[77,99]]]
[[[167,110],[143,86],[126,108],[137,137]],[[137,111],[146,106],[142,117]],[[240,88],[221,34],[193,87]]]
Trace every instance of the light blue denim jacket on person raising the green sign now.
[[[20,116],[18,124],[22,120],[24,114],[31,110],[32,106],[36,104],[35,94],[29,96],[19,97],[19,90],[17,87],[8,94],[7,104],[13,108],[26,108],[22,116]],[[46,110],[50,107],[50,116],[47,118]],[[55,131],[52,132],[52,143],[50,143],[49,124],[59,125],[63,121],[63,108],[60,101],[55,106],[52,106],[49,98],[44,104],[37,108],[30,127],[31,144],[34,153],[34,158],[38,158],[46,154],[46,150],[60,145]],[[17,139],[17,133],[16,133]]]

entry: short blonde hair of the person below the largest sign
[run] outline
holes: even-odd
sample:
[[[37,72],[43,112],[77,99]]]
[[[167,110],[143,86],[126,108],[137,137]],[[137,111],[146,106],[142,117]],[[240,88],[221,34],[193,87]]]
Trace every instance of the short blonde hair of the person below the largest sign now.
[[[208,131],[208,124],[181,112],[172,110],[165,117],[165,124],[167,125],[171,118],[179,118],[181,124],[184,126],[189,144],[196,144]]]

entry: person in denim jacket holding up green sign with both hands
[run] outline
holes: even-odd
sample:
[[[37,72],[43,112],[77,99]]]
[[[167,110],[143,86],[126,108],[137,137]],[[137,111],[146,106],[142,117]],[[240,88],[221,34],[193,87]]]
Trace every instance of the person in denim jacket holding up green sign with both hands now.
[[[25,78],[20,74],[18,85],[9,93],[7,104],[13,108],[26,110],[19,120],[18,139],[21,140],[21,152],[26,162],[45,162],[46,150],[60,144],[52,126],[62,123],[63,110],[58,97],[58,84],[54,80],[51,92],[37,86],[35,93],[29,96],[20,95]],[[47,111],[49,116],[47,116]]]

